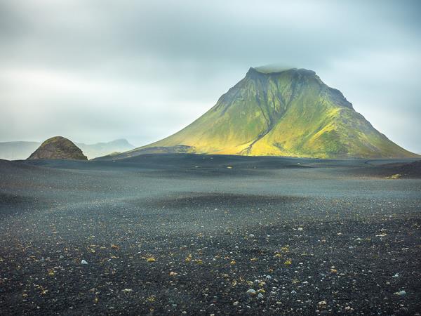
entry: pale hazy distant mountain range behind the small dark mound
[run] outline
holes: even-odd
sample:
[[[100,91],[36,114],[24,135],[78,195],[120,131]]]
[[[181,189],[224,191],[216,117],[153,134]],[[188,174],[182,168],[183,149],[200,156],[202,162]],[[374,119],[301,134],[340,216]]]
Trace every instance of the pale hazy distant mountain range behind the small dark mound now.
[[[112,140],[108,143],[83,144],[75,143],[88,159],[101,157],[112,152],[126,152],[135,146],[125,139]],[[0,143],[0,159],[19,160],[27,159],[29,155],[41,145],[39,142],[4,142]]]

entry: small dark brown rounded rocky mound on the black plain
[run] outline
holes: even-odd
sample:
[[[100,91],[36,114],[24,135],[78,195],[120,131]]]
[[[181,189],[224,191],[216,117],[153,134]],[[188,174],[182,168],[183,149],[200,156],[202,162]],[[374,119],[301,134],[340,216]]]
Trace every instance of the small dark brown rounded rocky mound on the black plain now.
[[[61,136],[49,138],[28,159],[79,159],[88,160],[79,147]]]

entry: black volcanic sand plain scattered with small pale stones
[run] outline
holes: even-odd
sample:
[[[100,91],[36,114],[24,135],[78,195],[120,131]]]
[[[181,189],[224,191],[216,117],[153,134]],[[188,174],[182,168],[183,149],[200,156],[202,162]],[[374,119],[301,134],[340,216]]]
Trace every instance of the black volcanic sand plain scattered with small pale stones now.
[[[0,161],[0,314],[420,315],[412,162]]]

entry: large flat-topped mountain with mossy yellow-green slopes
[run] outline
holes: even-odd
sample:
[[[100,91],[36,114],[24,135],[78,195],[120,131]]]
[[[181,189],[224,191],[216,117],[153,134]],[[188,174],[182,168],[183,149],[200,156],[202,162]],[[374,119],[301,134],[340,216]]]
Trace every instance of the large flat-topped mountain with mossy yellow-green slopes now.
[[[418,157],[377,131],[312,70],[250,68],[216,105],[178,133],[112,159],[145,152],[319,158]]]

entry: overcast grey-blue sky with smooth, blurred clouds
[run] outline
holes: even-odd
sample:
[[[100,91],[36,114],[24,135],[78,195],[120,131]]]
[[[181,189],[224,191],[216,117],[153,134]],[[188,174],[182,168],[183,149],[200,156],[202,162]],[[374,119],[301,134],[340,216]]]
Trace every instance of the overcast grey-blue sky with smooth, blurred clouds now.
[[[420,1],[0,0],[0,141],[147,145],[249,67],[314,70],[421,152]]]

